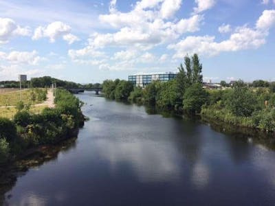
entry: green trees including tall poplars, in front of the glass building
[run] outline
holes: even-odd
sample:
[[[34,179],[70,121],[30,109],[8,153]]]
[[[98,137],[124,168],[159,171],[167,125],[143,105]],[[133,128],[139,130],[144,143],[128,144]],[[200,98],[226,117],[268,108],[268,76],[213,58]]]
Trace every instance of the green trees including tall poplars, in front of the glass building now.
[[[131,82],[125,80],[105,80],[102,84],[103,93],[112,100],[129,100],[164,109],[183,109],[188,113],[199,113],[208,98],[208,93],[202,88],[201,70],[199,57],[194,54],[192,57],[185,57],[184,65],[180,65],[174,80],[153,81],[145,89],[133,87]]]

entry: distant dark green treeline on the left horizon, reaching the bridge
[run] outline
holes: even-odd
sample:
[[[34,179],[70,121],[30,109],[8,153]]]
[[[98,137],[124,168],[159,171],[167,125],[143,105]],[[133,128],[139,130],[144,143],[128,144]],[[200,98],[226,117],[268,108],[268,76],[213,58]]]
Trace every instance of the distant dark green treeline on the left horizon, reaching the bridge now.
[[[41,78],[32,78],[29,81],[21,82],[22,88],[50,88],[52,84],[56,83],[56,87],[59,88],[92,88],[100,87],[99,83],[96,84],[78,84],[76,82],[69,82],[65,80],[58,80],[50,76],[43,76]],[[19,88],[20,83],[18,81],[2,81],[0,82],[1,87],[5,88]]]

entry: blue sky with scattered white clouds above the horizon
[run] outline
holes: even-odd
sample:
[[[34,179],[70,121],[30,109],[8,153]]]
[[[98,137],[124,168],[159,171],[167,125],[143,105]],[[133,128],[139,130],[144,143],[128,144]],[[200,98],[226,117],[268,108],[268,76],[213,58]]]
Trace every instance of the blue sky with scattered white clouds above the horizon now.
[[[275,81],[275,0],[0,0],[0,81],[80,83],[177,71]]]

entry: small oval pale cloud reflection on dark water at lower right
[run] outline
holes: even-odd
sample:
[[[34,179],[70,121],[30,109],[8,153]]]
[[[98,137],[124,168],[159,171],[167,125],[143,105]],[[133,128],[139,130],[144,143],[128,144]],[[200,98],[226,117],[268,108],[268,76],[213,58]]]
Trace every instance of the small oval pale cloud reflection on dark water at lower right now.
[[[192,168],[191,181],[197,189],[203,189],[209,183],[210,171],[208,165],[204,163],[196,163]]]

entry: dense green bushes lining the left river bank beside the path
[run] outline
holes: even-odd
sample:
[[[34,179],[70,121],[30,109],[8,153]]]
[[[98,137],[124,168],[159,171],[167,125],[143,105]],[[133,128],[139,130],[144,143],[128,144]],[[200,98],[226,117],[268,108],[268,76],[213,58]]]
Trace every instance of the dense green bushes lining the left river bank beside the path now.
[[[28,148],[55,144],[83,126],[82,102],[68,91],[58,89],[55,108],[34,114],[21,108],[14,119],[0,117],[0,163],[17,157]]]

